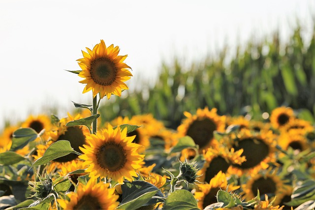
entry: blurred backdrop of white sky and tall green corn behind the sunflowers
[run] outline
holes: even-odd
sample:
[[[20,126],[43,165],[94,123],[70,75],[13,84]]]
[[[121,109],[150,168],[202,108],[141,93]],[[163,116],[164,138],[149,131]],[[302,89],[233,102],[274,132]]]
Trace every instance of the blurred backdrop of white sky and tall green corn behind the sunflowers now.
[[[104,120],[153,113],[176,128],[204,106],[261,118],[285,105],[314,121],[314,10],[314,0],[1,0],[0,130],[91,104],[65,70],[100,39],[133,70],[130,90],[102,100]]]

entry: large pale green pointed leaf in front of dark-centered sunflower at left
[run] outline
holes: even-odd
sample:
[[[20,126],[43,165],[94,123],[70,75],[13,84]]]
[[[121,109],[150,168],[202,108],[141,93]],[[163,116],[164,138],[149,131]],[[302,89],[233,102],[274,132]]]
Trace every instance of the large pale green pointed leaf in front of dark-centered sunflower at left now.
[[[45,151],[44,155],[38,158],[31,167],[40,166],[48,163],[51,160],[57,159],[58,157],[63,157],[67,154],[75,153],[80,155],[79,152],[71,148],[70,142],[66,140],[59,140],[52,145],[50,145]]]

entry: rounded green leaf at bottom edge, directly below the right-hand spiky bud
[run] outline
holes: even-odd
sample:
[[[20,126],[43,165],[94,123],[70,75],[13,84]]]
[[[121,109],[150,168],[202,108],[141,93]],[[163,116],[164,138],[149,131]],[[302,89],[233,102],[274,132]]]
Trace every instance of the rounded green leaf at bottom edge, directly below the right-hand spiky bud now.
[[[162,210],[199,210],[192,193],[185,189],[172,192],[165,200]]]

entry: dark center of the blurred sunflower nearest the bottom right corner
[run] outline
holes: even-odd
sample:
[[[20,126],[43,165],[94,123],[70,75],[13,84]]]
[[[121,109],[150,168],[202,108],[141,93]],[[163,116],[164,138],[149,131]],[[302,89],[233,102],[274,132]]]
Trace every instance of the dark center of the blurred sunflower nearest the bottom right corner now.
[[[266,179],[261,177],[252,183],[252,193],[254,196],[257,196],[257,189],[259,190],[261,198],[265,198],[265,194],[271,197],[276,193],[276,182],[269,177]]]

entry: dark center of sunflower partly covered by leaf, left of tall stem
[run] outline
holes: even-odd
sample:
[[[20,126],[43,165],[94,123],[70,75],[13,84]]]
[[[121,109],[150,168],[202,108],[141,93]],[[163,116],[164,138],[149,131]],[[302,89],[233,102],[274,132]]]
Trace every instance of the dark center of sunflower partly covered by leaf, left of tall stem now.
[[[77,152],[81,152],[79,147],[83,147],[83,145],[85,144],[85,135],[83,134],[82,127],[73,126],[73,127],[68,127],[67,131],[65,131],[64,134],[59,136],[57,141],[59,141],[59,140],[69,141],[73,150],[75,150]],[[55,159],[54,161],[68,162],[68,161],[76,159],[77,157],[78,157],[77,154],[70,153],[70,154],[67,154],[63,157],[59,157],[59,158]]]

